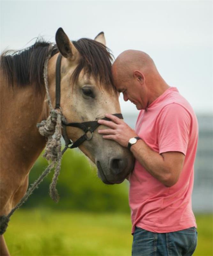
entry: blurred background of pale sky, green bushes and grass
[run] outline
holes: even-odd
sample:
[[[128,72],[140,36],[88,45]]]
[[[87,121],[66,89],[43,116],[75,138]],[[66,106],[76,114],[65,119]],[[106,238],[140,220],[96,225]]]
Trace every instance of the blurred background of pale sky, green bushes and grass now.
[[[71,40],[104,31],[115,58],[124,50],[147,52],[164,80],[190,102],[199,123],[193,210],[198,224],[194,255],[213,255],[213,50],[212,1],[1,1],[1,52],[55,42],[62,27]],[[138,111],[120,96],[134,128]],[[47,162],[39,157],[32,183]],[[5,234],[11,255],[131,255],[128,182],[108,186],[79,150],[63,157],[51,201],[49,174],[12,217]]]

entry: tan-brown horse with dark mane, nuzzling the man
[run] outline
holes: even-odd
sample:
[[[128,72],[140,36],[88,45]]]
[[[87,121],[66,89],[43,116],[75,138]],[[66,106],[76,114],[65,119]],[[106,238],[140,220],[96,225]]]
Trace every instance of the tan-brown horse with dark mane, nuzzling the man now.
[[[49,96],[56,103],[56,62],[61,55],[60,109],[67,122],[82,123],[101,119],[105,113],[120,113],[118,92],[112,83],[112,55],[105,46],[104,33],[94,40],[70,41],[62,28],[56,44],[36,40],[19,51],[1,55],[1,201],[0,216],[8,214],[25,195],[29,172],[46,144],[37,123],[49,115],[43,78],[48,60]],[[104,128],[104,126],[102,127]],[[76,141],[79,127],[66,128],[67,137]],[[104,140],[95,130],[80,150],[97,165],[97,175],[106,184],[121,183],[133,169],[131,152],[115,141]],[[9,255],[1,235],[1,255]]]

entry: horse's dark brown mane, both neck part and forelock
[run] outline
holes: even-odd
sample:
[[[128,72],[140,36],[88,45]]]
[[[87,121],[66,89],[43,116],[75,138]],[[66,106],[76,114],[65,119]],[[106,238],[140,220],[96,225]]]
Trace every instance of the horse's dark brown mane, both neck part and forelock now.
[[[114,88],[111,76],[113,56],[110,50],[103,44],[88,38],[81,38],[72,43],[81,55],[79,64],[72,74],[72,83],[77,82],[80,71],[84,69],[85,73],[93,76],[100,84]],[[34,84],[36,91],[41,91],[44,88],[44,61],[49,54],[50,45],[54,44],[37,39],[35,44],[23,50],[3,52],[1,69],[7,77],[8,84],[13,86],[16,83],[20,87]],[[58,50],[55,50],[57,53]]]

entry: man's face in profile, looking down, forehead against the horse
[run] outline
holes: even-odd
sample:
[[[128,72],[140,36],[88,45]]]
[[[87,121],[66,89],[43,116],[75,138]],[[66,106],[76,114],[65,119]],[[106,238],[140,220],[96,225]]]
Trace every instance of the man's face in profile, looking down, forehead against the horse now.
[[[113,70],[113,69],[112,69]],[[145,93],[141,84],[133,76],[127,76],[126,74],[119,74],[118,72],[112,72],[113,83],[118,92],[123,93],[124,100],[130,100],[138,110],[145,109]]]

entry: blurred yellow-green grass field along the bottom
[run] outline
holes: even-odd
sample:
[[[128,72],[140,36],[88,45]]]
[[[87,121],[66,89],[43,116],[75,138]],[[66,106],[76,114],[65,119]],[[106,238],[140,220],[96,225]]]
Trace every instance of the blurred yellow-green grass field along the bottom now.
[[[197,215],[194,255],[213,255],[212,216]],[[18,210],[5,239],[11,255],[131,255],[130,216],[121,213]]]

